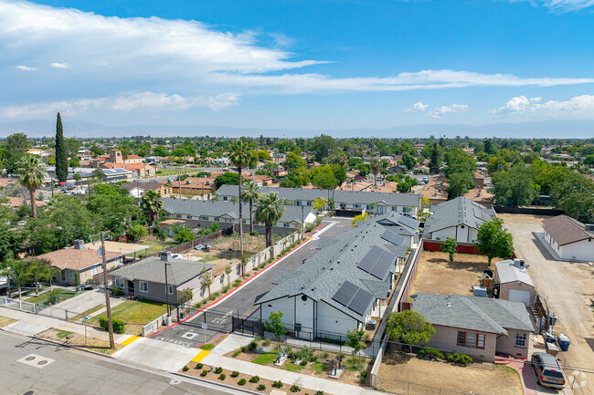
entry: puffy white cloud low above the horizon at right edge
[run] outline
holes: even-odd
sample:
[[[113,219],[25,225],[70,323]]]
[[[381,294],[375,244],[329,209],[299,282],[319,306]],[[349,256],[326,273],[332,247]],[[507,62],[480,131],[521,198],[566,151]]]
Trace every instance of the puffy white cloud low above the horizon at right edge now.
[[[545,103],[541,101],[541,98],[528,99],[525,96],[518,96],[510,99],[498,109],[491,109],[489,113],[511,117],[525,114],[538,114],[554,118],[570,114],[594,116],[594,96],[582,95],[564,101],[548,100]]]

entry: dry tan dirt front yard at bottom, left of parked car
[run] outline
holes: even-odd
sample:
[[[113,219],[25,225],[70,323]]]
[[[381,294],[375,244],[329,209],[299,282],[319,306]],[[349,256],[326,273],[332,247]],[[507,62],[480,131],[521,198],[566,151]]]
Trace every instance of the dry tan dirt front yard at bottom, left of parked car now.
[[[451,394],[452,392],[431,390],[438,387],[482,395],[522,395],[522,382],[515,371],[493,368],[492,364],[477,366],[456,366],[451,363],[419,359],[408,354],[389,351],[382,359],[378,371],[378,387],[392,393],[409,394]],[[401,380],[401,381],[398,381]],[[414,385],[414,384],[422,384]]]

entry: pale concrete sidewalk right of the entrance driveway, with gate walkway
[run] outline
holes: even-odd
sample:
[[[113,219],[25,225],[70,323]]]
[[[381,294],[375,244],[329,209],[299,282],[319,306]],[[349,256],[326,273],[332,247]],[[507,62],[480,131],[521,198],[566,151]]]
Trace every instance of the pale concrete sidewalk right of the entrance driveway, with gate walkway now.
[[[248,374],[250,376],[257,375],[262,379],[281,380],[285,384],[297,384],[302,388],[323,390],[324,393],[328,394],[341,395],[347,393],[354,395],[376,395],[381,393],[376,390],[345,384],[335,379],[320,379],[300,373],[293,373],[289,370],[270,368],[268,366],[261,366],[243,360],[224,357],[229,351],[240,348],[241,346],[247,346],[252,339],[253,338],[249,336],[232,333],[217,345],[216,348],[213,348],[210,354],[202,359],[202,363],[214,367],[220,366],[229,370],[237,370],[240,373]]]

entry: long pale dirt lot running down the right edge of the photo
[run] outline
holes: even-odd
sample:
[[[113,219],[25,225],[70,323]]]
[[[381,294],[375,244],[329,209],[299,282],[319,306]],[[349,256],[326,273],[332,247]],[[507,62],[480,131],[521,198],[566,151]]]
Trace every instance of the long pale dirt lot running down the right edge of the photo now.
[[[515,253],[530,265],[528,274],[557,314],[555,330],[571,339],[567,361],[574,367],[594,370],[594,268],[587,264],[556,261],[536,239],[543,232],[545,216],[499,214],[514,235]],[[566,370],[566,374],[571,371]],[[594,374],[587,375],[586,395],[594,395]],[[580,392],[578,392],[580,393]]]

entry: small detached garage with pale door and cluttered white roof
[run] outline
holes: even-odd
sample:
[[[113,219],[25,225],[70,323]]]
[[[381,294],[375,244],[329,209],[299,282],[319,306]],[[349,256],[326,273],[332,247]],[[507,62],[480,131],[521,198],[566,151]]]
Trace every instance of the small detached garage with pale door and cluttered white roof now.
[[[535,284],[526,271],[523,259],[506,259],[495,263],[493,294],[504,300],[522,302],[525,306],[535,304]]]

